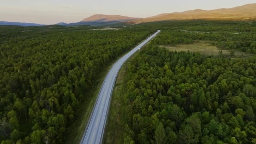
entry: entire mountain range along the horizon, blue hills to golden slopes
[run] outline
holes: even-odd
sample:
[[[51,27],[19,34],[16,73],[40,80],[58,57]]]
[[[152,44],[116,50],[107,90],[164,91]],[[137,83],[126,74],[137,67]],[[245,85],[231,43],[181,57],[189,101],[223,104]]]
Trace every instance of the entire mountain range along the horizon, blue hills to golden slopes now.
[[[246,4],[243,6],[233,7],[229,9],[215,10],[188,10],[185,12],[162,13],[148,18],[131,18],[121,15],[92,15],[80,22],[64,23],[60,22],[56,25],[108,25],[119,22],[129,22],[139,24],[143,22],[168,21],[168,20],[186,20],[186,19],[205,19],[205,20],[238,20],[250,21],[256,20],[256,3]],[[21,22],[5,22],[0,21],[0,25],[21,25],[21,26],[42,26],[41,24],[21,23]]]

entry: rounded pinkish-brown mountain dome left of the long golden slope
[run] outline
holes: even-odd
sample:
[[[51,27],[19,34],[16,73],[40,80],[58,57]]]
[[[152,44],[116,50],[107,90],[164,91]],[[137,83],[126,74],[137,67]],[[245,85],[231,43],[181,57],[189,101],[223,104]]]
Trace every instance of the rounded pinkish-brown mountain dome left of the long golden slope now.
[[[131,18],[128,16],[121,15],[93,15],[82,20],[82,22],[93,22],[93,21],[102,21],[102,22],[111,22],[111,21],[131,21],[141,18]]]

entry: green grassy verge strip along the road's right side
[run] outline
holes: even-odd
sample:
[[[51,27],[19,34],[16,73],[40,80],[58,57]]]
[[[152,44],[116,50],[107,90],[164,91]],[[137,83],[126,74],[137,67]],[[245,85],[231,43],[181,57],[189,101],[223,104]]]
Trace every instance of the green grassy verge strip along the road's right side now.
[[[126,62],[121,68],[116,79],[115,87],[112,93],[110,103],[109,116],[104,132],[104,144],[121,144],[123,143],[123,126],[121,122],[121,110],[123,104],[122,96],[127,92],[127,84],[125,80],[128,63]]]

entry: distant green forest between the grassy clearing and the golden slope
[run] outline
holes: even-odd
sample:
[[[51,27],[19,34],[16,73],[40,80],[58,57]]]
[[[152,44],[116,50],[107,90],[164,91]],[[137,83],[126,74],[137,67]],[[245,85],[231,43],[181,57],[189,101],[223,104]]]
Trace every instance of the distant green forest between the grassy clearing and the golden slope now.
[[[221,49],[256,53],[255,23],[185,21],[161,24],[161,29],[163,31],[153,42],[155,45],[190,44],[203,40]]]

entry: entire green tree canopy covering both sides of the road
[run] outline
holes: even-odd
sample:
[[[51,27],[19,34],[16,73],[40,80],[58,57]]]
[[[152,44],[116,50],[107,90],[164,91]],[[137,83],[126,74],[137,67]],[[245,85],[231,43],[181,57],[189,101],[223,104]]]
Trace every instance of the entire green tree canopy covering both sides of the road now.
[[[155,32],[129,63],[124,143],[256,143],[256,59],[168,52],[206,41],[256,53],[256,23],[168,21],[118,29],[0,27],[0,143],[61,144],[103,67]]]

